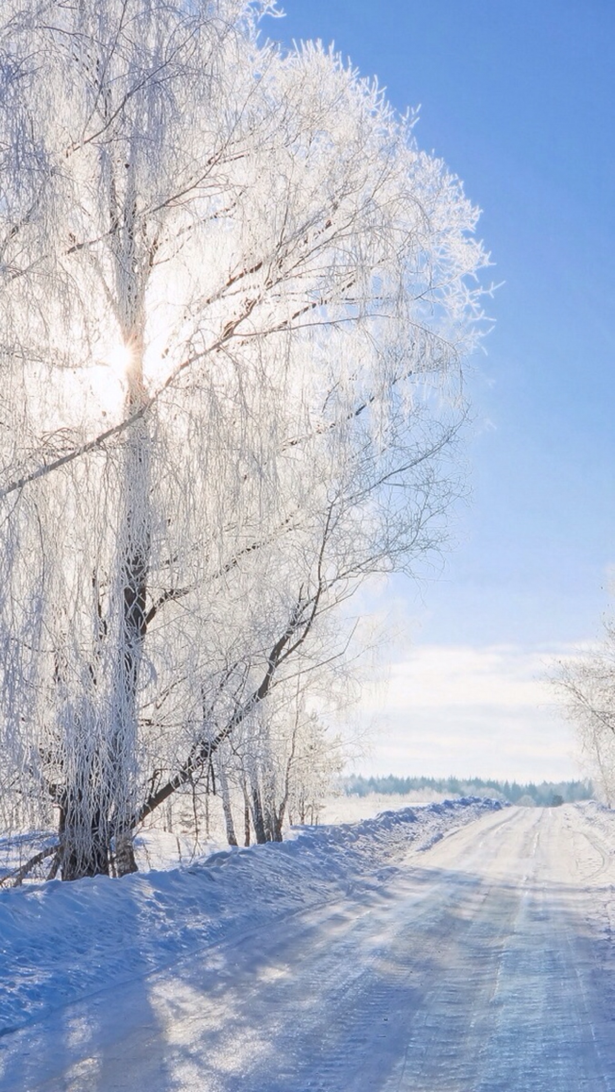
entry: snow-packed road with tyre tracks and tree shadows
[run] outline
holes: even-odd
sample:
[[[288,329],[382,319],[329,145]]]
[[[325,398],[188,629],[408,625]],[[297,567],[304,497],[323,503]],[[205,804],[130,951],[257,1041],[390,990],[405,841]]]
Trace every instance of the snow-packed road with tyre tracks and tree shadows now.
[[[487,815],[378,887],[9,1036],[0,1088],[615,1090],[614,848],[604,812]]]

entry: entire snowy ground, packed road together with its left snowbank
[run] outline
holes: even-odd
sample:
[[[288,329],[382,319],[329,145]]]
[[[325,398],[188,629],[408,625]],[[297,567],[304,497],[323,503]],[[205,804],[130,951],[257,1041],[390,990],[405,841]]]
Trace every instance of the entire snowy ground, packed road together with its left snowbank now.
[[[447,802],[7,891],[0,1089],[615,1092],[614,845]]]

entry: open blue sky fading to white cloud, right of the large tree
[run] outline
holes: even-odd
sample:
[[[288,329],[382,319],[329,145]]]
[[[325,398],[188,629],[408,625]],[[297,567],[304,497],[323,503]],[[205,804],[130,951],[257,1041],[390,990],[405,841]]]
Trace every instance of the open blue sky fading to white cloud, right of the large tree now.
[[[508,704],[501,731],[490,736],[488,724],[502,710],[494,701],[481,704],[474,688],[474,726],[464,722],[474,740],[469,753],[456,727],[456,717],[471,716],[469,695],[461,692],[457,703],[449,695],[441,716],[431,711],[423,743],[414,746],[411,679],[422,657],[431,670],[438,650],[450,674],[453,650],[460,664],[475,655],[493,668],[497,649],[508,682],[500,681],[510,693],[520,656],[527,656],[525,681],[535,679],[542,660],[595,638],[608,605],[615,566],[615,4],[286,0],[283,8],[284,20],[267,22],[271,37],[334,41],[362,74],[378,76],[400,110],[421,106],[417,143],[446,161],[483,210],[480,234],[495,263],[490,272],[505,282],[489,304],[496,327],[487,356],[472,360],[471,498],[454,521],[458,545],[440,579],[424,584],[418,596],[402,581],[385,596],[409,622],[412,644],[400,639],[391,653],[392,689],[394,679],[399,690],[406,677],[407,702],[400,712],[398,701],[395,714],[393,698],[389,705],[386,695],[379,699],[389,709],[389,727],[371,764],[383,770],[394,760],[407,772],[572,774],[569,732],[541,708],[537,682],[537,712],[530,711],[523,682],[518,720],[510,721]],[[460,672],[462,689],[463,677]],[[497,695],[495,676],[485,689]],[[387,749],[387,731],[395,736],[394,749]],[[509,761],[505,744],[516,732],[519,746]]]

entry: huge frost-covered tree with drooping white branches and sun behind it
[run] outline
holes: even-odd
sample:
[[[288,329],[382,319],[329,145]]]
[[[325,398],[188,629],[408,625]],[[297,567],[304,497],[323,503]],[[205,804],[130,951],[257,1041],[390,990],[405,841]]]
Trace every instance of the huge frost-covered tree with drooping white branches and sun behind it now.
[[[458,491],[476,212],[268,13],[2,7],[1,778],[67,879],[133,868]]]

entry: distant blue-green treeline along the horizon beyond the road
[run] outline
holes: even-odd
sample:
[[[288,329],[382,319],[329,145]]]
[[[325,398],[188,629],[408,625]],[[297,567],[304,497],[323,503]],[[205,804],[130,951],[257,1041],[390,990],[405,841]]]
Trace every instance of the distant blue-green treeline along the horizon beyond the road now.
[[[573,800],[589,800],[593,796],[590,781],[543,781],[535,785],[530,781],[520,785],[517,781],[483,781],[482,778],[345,778],[343,787],[346,796],[367,796],[368,793],[425,792],[450,793],[451,796],[490,796],[511,804],[535,804],[539,807],[553,804],[571,804]]]

